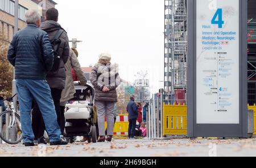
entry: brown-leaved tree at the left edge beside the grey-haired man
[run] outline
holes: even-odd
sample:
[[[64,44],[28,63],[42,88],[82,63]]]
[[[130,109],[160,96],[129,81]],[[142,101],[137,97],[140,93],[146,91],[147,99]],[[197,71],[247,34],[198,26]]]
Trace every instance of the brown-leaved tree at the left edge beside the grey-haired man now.
[[[13,67],[7,60],[8,44],[5,37],[0,35],[0,93],[2,96],[11,96]]]

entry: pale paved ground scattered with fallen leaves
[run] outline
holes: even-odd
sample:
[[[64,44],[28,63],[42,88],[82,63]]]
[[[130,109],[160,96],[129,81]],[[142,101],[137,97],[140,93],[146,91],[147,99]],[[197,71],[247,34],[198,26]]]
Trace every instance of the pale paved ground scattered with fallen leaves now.
[[[0,145],[1,156],[256,156],[256,139],[246,140],[113,140],[112,143],[76,143],[61,147]]]

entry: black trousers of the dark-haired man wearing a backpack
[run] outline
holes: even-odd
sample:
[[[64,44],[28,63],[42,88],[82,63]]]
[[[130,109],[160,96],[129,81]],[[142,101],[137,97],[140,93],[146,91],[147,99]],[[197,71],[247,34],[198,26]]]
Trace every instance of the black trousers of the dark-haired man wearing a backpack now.
[[[60,110],[61,92],[62,92],[62,90],[60,90],[60,89],[51,88],[52,99],[53,99],[53,102],[55,105],[57,122],[58,122],[59,126],[61,123],[61,110]],[[64,116],[64,114],[63,114],[63,116]],[[36,101],[34,101],[34,106],[33,106],[33,110],[32,110],[32,129],[33,129],[33,132],[35,135],[35,139],[43,137],[44,130],[46,130],[46,126],[44,125],[44,120],[43,120],[42,114],[40,112],[40,109],[39,109]],[[63,132],[61,130],[61,133],[63,134],[64,130],[63,130]]]

